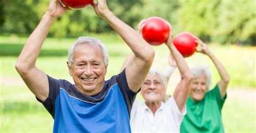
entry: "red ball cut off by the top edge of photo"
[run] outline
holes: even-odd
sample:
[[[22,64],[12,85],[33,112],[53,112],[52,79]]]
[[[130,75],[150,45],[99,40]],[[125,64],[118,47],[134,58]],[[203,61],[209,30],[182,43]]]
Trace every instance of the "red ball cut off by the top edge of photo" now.
[[[67,6],[70,9],[82,9],[90,5],[93,0],[59,0],[63,6]]]

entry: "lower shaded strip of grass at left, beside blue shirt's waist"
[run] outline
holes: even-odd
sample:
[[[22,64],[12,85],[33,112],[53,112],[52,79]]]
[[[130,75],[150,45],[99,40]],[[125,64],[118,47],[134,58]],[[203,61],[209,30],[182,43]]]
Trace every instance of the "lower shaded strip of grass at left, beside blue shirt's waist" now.
[[[18,113],[18,114],[28,114],[29,112],[43,112],[46,111],[43,104],[36,102],[26,102],[26,101],[5,101],[1,102],[2,113]]]

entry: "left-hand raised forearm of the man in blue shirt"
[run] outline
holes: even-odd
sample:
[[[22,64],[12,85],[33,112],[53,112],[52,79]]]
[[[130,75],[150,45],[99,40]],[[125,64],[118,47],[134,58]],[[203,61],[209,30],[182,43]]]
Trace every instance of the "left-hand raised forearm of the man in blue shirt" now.
[[[30,69],[35,66],[36,59],[41,51],[45,37],[47,36],[50,26],[54,22],[48,13],[45,13],[41,22],[32,32],[26,44],[23,47],[21,54],[18,57],[16,65],[22,65],[22,69]]]

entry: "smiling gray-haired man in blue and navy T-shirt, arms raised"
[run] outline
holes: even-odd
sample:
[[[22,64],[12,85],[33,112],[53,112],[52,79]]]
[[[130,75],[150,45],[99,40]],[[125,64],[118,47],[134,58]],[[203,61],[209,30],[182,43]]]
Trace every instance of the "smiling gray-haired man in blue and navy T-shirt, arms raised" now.
[[[16,69],[54,118],[53,132],[130,132],[130,110],[152,65],[154,50],[130,26],[107,8],[105,0],[92,4],[134,53],[126,69],[104,81],[108,55],[98,40],[80,37],[69,50],[67,65],[75,85],[57,80],[36,67],[36,59],[53,22],[69,9],[51,0],[48,11],[18,57]],[[53,66],[56,67],[56,66]]]

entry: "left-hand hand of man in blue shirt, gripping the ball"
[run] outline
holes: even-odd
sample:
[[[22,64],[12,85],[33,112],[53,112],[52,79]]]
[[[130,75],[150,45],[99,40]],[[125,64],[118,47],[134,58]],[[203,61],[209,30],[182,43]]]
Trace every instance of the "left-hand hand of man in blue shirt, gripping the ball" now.
[[[62,16],[63,13],[65,13],[68,10],[70,9],[60,4],[59,0],[50,0],[48,10],[46,13],[49,13],[50,17],[55,19]]]

